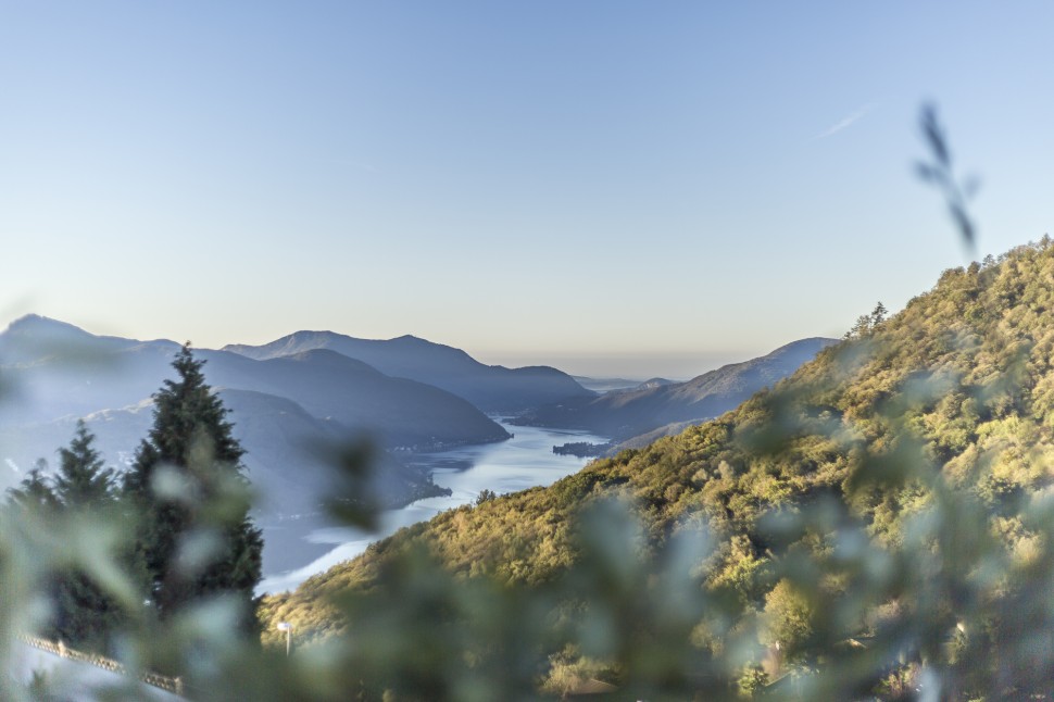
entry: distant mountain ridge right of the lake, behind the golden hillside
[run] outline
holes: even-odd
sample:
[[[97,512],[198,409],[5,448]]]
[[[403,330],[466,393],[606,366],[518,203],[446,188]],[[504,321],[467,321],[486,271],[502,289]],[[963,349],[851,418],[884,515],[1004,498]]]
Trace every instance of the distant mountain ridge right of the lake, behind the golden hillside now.
[[[575,398],[547,404],[512,421],[513,424],[588,429],[618,443],[672,425],[715,417],[776,381],[794,373],[835,339],[813,337],[782,346],[742,363],[731,363],[687,383],[655,378],[636,388],[613,390],[597,398]]]

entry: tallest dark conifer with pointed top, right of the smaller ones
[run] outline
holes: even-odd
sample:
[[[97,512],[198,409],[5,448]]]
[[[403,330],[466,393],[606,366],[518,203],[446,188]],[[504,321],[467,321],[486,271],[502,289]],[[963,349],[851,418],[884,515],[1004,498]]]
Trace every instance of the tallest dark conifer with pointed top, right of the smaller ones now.
[[[123,485],[142,519],[152,600],[167,618],[201,598],[235,594],[251,627],[263,538],[231,489],[247,482],[244,451],[189,343],[172,365],[177,378],[154,393],[153,427]]]

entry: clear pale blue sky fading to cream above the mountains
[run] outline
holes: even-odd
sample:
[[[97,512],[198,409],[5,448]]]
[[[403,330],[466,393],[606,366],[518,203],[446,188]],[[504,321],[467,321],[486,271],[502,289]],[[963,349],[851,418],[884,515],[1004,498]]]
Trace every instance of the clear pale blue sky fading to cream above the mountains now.
[[[0,0],[0,326],[687,378],[1054,216],[1043,2]],[[969,252],[921,105],[981,188]]]

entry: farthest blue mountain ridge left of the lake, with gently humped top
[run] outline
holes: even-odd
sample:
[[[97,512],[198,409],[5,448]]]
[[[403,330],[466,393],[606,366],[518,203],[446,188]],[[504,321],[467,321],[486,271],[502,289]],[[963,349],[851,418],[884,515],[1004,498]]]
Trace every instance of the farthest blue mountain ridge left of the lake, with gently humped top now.
[[[486,365],[461,349],[409,335],[379,340],[335,331],[297,331],[263,346],[227,344],[223,351],[268,360],[321,349],[356,359],[393,377],[442,388],[484,412],[517,413],[567,398],[595,397],[556,368]]]

